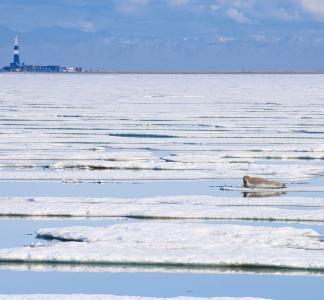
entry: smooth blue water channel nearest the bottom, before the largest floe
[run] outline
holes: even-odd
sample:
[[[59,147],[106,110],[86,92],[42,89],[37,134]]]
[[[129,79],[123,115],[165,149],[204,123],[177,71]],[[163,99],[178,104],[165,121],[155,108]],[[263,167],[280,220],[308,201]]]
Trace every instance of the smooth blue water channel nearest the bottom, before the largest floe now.
[[[324,277],[162,272],[0,271],[0,294],[84,293],[133,296],[253,296],[323,300]]]

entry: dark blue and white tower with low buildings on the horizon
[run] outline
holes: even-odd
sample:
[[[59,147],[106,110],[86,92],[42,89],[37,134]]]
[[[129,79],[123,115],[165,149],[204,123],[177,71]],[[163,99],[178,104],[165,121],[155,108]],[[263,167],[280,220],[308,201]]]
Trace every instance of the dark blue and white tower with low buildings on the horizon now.
[[[18,36],[14,40],[14,55],[13,61],[9,66],[4,66],[0,71],[2,72],[49,72],[49,73],[80,73],[83,72],[81,67],[63,67],[59,65],[26,65],[21,62],[19,54],[19,39]]]

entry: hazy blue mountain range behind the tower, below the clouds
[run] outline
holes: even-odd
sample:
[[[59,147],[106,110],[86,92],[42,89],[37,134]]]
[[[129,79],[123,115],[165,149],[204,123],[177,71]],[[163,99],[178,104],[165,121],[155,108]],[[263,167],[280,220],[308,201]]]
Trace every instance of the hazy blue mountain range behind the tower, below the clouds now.
[[[225,24],[226,25],[226,24]],[[276,30],[270,24],[177,28],[165,34],[142,24],[86,32],[50,27],[15,32],[0,27],[0,65],[12,60],[21,40],[27,64],[76,65],[109,71],[324,70],[324,28],[314,24]],[[161,25],[163,26],[163,25]],[[188,34],[188,32],[190,34]]]

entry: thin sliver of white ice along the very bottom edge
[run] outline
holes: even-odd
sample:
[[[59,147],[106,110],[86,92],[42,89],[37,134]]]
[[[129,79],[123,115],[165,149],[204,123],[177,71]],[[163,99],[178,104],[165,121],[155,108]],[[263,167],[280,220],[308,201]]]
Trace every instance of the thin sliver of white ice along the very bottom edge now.
[[[264,298],[250,297],[175,297],[175,298],[158,298],[158,297],[141,297],[141,296],[112,296],[112,295],[0,295],[0,300],[265,300]]]

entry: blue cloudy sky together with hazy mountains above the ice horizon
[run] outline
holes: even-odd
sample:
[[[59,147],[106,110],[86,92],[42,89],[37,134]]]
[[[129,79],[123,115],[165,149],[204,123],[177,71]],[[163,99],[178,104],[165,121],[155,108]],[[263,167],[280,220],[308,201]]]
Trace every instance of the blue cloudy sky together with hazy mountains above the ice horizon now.
[[[0,0],[0,65],[324,70],[324,0]]]

